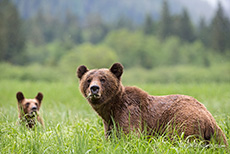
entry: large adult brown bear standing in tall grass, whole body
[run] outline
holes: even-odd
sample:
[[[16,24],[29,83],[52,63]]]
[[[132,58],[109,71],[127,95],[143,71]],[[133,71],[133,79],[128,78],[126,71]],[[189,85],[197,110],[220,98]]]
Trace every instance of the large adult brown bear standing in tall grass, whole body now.
[[[124,133],[147,130],[148,135],[176,132],[228,145],[211,113],[196,99],[185,95],[151,96],[137,87],[121,83],[123,66],[88,70],[79,66],[80,90],[103,119],[105,135],[114,127]],[[114,126],[115,124],[115,126]],[[118,128],[119,127],[119,128]]]

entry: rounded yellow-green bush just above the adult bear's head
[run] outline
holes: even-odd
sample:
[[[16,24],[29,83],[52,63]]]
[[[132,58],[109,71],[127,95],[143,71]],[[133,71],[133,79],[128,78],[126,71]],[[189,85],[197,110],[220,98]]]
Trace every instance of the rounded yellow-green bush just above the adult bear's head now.
[[[110,67],[117,62],[116,53],[104,45],[82,44],[69,51],[60,61],[63,70],[73,73],[80,65],[88,68]]]

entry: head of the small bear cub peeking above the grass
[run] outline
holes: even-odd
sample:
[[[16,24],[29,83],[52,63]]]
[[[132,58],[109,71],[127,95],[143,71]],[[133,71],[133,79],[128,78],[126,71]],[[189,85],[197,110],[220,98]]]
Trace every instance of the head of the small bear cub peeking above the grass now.
[[[34,99],[26,99],[22,92],[18,92],[17,95],[18,100],[18,109],[19,116],[26,116],[27,118],[32,118],[39,113],[39,109],[41,106],[41,101],[43,99],[42,93],[38,93]]]

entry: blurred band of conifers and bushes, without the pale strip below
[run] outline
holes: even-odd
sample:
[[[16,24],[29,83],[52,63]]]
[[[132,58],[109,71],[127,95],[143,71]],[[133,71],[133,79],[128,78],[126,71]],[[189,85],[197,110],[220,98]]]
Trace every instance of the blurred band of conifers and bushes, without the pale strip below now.
[[[141,25],[124,16],[108,23],[91,14],[82,22],[72,12],[60,19],[44,12],[25,20],[10,0],[0,1],[1,62],[60,65],[72,71],[79,64],[108,67],[120,61],[127,68],[151,69],[180,64],[209,67],[230,55],[230,20],[221,3],[211,22],[201,18],[199,25],[192,23],[186,9],[172,15],[167,1],[159,20],[147,14]]]

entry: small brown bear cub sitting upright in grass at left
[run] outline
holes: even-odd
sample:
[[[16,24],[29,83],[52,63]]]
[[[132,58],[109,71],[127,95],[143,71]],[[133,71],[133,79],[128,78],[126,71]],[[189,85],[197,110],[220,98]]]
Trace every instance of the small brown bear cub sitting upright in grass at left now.
[[[26,99],[22,92],[16,94],[18,100],[18,117],[21,124],[27,128],[34,128],[36,120],[44,127],[42,118],[39,116],[43,94],[38,93],[34,99]]]

